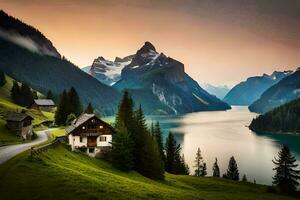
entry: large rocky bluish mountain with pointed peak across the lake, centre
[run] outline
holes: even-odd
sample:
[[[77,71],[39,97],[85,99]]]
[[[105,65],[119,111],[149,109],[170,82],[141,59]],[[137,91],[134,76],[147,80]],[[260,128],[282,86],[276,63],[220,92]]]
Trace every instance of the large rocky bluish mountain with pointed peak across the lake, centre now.
[[[113,87],[128,89],[149,114],[230,109],[186,74],[181,62],[158,53],[150,42],[136,52]]]

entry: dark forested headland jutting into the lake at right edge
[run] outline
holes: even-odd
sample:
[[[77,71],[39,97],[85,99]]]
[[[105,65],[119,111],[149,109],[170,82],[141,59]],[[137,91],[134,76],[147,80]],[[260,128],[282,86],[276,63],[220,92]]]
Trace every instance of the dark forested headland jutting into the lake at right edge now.
[[[249,128],[257,132],[300,133],[300,99],[259,115],[252,120]]]

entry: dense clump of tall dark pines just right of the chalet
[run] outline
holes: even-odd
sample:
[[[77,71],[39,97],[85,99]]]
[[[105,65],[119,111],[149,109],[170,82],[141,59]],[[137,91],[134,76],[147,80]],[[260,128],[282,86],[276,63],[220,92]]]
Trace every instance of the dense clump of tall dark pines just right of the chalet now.
[[[164,172],[189,174],[180,144],[169,133],[163,143],[159,122],[147,127],[142,107],[134,110],[134,102],[127,91],[116,115],[113,137],[112,164],[124,171],[136,170],[152,179],[164,179]]]

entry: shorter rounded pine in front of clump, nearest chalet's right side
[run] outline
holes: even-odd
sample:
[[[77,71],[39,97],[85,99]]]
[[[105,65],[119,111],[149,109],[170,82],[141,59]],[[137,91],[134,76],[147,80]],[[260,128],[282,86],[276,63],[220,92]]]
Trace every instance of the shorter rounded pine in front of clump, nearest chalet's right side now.
[[[134,167],[134,143],[128,130],[120,127],[112,141],[112,165],[122,171],[130,171]]]

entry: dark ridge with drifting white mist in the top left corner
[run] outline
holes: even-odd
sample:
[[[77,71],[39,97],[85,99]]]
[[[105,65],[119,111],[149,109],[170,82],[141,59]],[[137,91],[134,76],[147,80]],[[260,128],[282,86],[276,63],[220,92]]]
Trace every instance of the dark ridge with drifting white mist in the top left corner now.
[[[60,54],[40,31],[0,10],[0,37],[36,53],[60,58]]]

